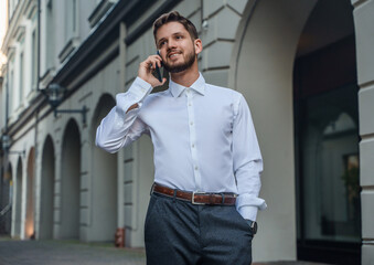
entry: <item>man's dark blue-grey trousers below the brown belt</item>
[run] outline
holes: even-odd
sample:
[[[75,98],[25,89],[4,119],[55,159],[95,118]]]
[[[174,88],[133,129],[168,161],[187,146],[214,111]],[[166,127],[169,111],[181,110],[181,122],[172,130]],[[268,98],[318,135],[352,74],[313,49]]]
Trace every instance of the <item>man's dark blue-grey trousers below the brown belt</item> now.
[[[249,265],[252,240],[234,205],[151,195],[145,223],[148,265]]]

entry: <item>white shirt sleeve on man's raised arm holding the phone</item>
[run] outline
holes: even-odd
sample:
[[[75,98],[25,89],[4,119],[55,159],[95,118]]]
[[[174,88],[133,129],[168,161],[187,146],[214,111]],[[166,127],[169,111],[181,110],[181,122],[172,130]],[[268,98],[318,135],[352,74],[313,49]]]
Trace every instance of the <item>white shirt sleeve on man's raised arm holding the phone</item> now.
[[[96,130],[96,146],[114,153],[147,131],[147,126],[138,118],[138,114],[151,91],[149,83],[137,77],[127,93],[117,94],[116,106]],[[128,112],[133,104],[138,104],[138,107]]]

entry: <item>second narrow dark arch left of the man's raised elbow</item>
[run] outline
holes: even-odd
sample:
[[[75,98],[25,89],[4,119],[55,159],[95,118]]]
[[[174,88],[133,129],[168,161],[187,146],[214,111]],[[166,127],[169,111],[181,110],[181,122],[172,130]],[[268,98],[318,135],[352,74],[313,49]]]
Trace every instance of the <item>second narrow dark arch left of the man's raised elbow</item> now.
[[[61,239],[79,237],[81,134],[71,119],[65,128],[61,160]]]

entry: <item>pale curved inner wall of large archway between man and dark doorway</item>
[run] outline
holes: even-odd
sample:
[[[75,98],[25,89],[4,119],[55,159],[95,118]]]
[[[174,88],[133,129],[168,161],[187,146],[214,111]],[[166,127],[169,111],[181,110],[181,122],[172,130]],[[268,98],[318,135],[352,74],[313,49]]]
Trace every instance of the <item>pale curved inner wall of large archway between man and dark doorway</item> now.
[[[316,2],[248,1],[236,34],[229,85],[252,109],[265,165],[261,197],[271,208],[258,215],[267,229],[256,235],[255,261],[296,259],[292,73]],[[288,203],[277,206],[279,201]]]

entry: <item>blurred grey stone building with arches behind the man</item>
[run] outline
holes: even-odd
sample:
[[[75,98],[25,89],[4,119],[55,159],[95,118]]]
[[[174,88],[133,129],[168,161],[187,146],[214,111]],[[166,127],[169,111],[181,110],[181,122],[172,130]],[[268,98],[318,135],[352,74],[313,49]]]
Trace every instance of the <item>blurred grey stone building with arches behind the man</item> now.
[[[206,81],[252,109],[269,205],[254,259],[374,264],[373,0],[6,2],[0,233],[113,242],[124,230],[143,246],[151,140],[109,155],[95,132],[156,53],[154,19],[178,10],[200,32]]]

